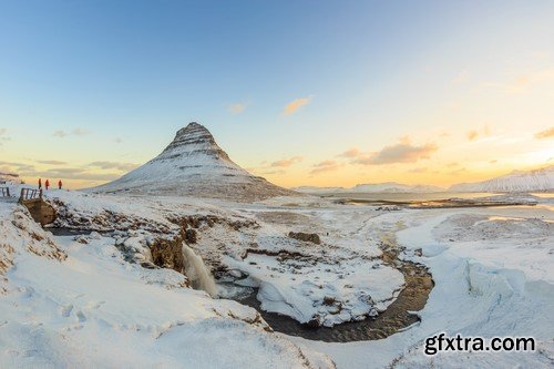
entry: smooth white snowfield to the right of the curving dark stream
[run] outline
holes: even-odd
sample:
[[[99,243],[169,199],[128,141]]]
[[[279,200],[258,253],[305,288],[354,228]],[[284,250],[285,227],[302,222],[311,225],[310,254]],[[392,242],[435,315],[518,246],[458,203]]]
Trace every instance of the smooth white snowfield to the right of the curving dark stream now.
[[[406,225],[397,232],[408,247],[406,257],[429,266],[433,275],[435,286],[419,312],[421,322],[379,341],[295,341],[327,352],[339,368],[552,367],[554,232],[548,207],[430,209],[386,217],[394,219],[380,221]],[[421,257],[410,253],[417,249]],[[531,336],[538,347],[531,352],[424,355],[424,339],[439,332]]]

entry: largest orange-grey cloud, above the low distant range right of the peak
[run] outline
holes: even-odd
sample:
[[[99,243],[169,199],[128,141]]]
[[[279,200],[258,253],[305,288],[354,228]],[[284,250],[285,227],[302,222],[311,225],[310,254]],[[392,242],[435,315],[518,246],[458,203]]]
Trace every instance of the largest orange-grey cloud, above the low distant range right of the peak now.
[[[363,165],[416,163],[422,158],[431,157],[431,154],[438,148],[433,143],[414,146],[410,144],[408,137],[404,137],[396,145],[386,146],[377,153],[358,157],[352,163]]]

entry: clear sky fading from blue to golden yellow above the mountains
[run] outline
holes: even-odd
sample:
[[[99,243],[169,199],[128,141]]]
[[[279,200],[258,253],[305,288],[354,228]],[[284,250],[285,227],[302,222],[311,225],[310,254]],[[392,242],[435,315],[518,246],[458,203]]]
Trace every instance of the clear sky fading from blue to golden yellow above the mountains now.
[[[0,172],[98,185],[191,121],[286,187],[554,165],[554,1],[0,0]]]

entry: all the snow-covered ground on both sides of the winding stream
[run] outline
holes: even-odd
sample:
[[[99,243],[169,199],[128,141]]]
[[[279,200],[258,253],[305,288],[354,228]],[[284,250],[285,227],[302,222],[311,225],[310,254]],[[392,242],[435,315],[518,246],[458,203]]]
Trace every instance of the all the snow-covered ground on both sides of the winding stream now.
[[[384,309],[403,277],[379,258],[383,238],[406,247],[403,258],[427,265],[435,287],[419,311],[421,322],[387,339],[308,341],[266,332],[254,310],[184,288],[181,274],[125,262],[110,237],[92,235],[84,246],[54,237],[42,253],[24,252],[22,244],[37,240],[10,226],[16,205],[0,203],[2,235],[12,239],[4,243],[12,249],[0,248],[8,278],[0,281],[6,290],[0,295],[0,367],[329,366],[317,351],[339,368],[547,368],[554,362],[554,201],[548,197],[536,206],[389,212],[312,197],[232,204],[69,192],[50,196],[59,197],[70,215],[63,226],[131,227],[157,236],[178,233],[174,219],[187,215],[225,219],[202,223],[192,247],[208,265],[247,274],[243,283],[260,287],[265,309],[299,321],[316,317],[332,326]],[[290,230],[317,233],[321,245],[289,238]],[[40,227],[33,232],[48,237]],[[133,239],[138,250],[146,247],[141,237]],[[321,304],[326,297],[337,304]],[[425,356],[424,339],[442,331],[532,336],[538,349]],[[229,349],[229,341],[238,346]]]

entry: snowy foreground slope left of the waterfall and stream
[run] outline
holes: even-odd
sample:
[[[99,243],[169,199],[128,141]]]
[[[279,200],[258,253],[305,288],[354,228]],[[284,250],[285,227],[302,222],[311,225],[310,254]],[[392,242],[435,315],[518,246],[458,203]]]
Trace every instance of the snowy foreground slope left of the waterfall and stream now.
[[[24,212],[25,227],[16,227],[9,218],[19,205],[0,203],[0,229],[16,249],[9,293],[0,297],[2,368],[332,366],[266,331],[254,309],[183,288],[176,271],[129,264],[110,237],[51,237]],[[45,250],[66,258],[27,252],[34,232]]]

